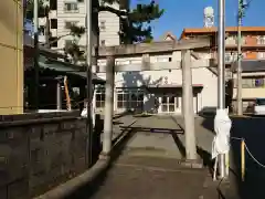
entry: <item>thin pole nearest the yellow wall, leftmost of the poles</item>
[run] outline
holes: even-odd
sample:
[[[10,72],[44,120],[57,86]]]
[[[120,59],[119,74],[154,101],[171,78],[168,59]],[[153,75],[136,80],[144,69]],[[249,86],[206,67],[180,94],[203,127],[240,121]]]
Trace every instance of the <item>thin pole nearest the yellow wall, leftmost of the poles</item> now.
[[[34,23],[34,109],[39,109],[39,80],[40,80],[40,69],[39,69],[39,0],[34,0],[34,12],[33,12],[33,23]]]

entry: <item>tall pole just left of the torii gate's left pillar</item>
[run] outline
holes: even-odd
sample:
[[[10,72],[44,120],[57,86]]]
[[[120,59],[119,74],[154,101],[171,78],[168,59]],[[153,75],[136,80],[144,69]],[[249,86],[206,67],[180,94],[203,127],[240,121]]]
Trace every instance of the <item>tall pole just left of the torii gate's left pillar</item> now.
[[[87,97],[87,119],[86,119],[86,164],[92,165],[93,145],[93,123],[92,123],[92,1],[86,1],[86,97]]]

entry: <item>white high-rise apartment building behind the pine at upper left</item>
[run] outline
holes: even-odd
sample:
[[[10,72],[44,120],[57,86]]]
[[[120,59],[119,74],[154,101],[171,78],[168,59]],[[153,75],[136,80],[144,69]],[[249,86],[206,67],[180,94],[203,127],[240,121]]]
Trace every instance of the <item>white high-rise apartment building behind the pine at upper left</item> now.
[[[68,35],[71,24],[86,27],[86,0],[45,0],[45,4],[50,7],[50,32],[52,49],[62,51],[67,42],[74,38]],[[119,9],[119,4],[114,3],[110,7]],[[46,18],[39,20],[40,42],[45,42]],[[100,45],[118,45],[120,44],[119,18],[110,12],[99,12],[99,44]],[[57,42],[56,38],[62,38]],[[53,40],[54,39],[54,40]],[[85,34],[78,41],[80,45],[86,45]]]

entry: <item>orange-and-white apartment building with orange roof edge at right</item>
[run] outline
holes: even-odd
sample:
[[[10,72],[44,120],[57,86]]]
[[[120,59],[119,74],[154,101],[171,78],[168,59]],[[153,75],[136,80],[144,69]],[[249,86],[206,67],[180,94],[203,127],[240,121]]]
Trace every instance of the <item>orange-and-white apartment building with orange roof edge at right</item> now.
[[[231,63],[237,59],[237,28],[225,29],[225,62]],[[180,39],[210,36],[212,48],[204,52],[204,56],[215,57],[218,46],[216,28],[184,29]],[[265,59],[265,27],[242,27],[242,55],[244,60]],[[210,53],[209,53],[210,52]]]

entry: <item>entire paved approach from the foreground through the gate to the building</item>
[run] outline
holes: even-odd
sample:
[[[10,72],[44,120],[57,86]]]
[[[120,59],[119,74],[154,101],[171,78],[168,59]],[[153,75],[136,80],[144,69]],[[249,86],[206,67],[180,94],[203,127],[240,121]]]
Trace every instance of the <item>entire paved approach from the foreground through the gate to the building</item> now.
[[[212,181],[209,169],[214,136],[212,127],[213,124],[195,117],[198,157],[204,164],[203,168],[195,169],[179,164],[184,158],[182,117],[128,115],[116,118],[114,139],[118,140],[124,134],[129,135],[118,147],[117,159],[98,178],[70,198],[237,199],[234,197],[236,193],[224,197],[232,192],[229,186]]]

